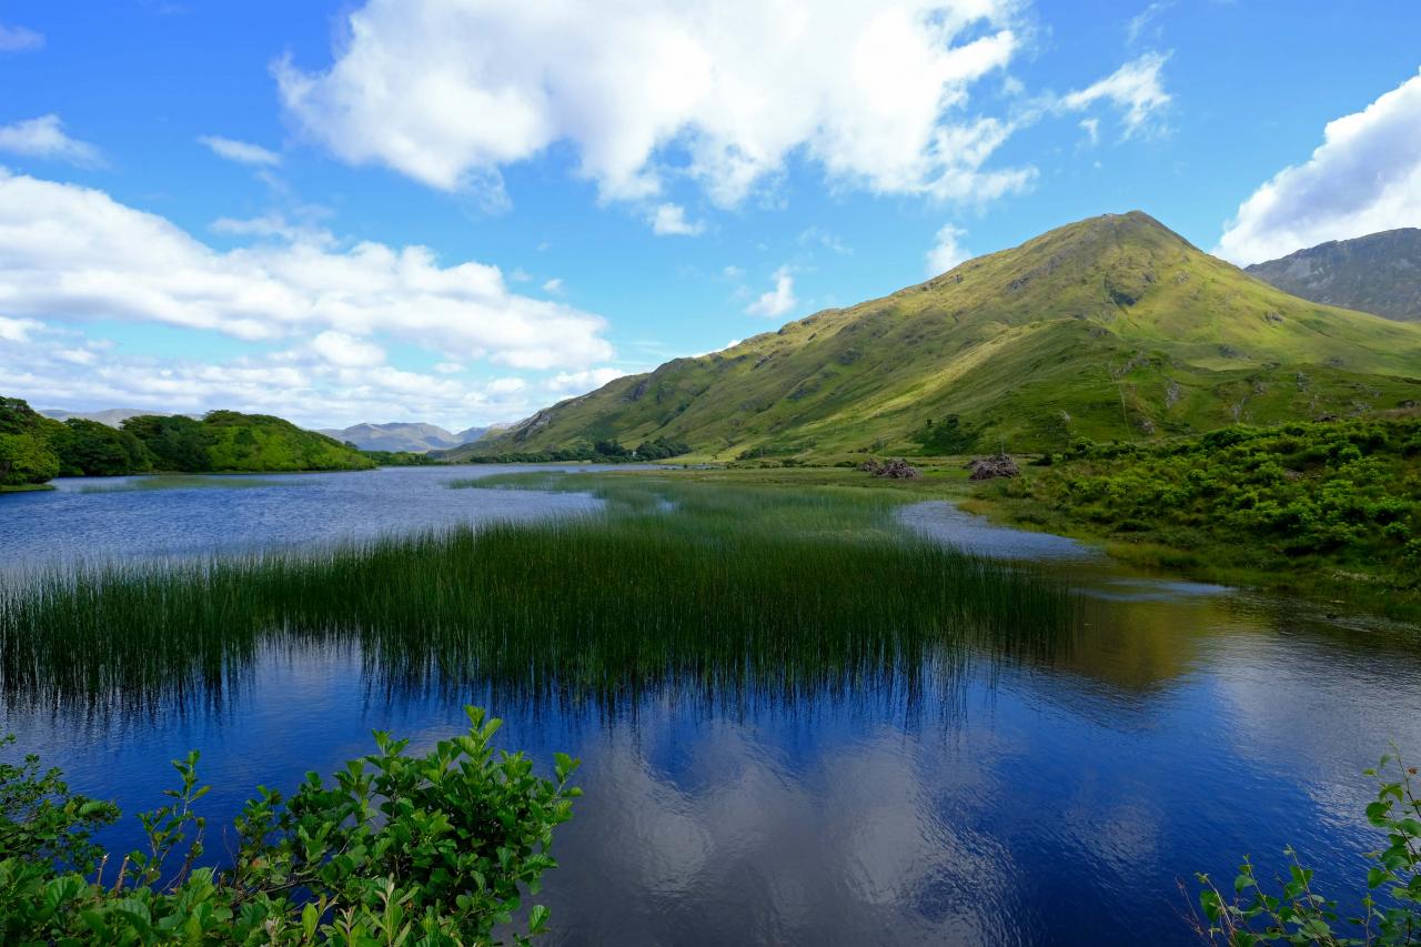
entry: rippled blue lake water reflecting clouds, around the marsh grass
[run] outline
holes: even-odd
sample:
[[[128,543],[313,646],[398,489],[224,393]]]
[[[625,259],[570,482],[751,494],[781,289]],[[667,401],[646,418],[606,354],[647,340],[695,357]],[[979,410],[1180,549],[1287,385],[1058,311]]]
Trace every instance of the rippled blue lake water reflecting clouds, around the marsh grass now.
[[[487,469],[487,468],[480,468]],[[475,472],[479,472],[477,469]],[[490,471],[492,472],[492,471]],[[64,482],[0,496],[0,565],[330,542],[394,528],[593,509],[581,495],[449,491],[469,469],[209,478],[168,489]],[[215,493],[213,491],[220,491]],[[549,707],[500,692],[503,739],[583,758],[557,836],[554,943],[1188,944],[1196,870],[1293,843],[1354,889],[1376,838],[1358,775],[1388,739],[1421,756],[1418,631],[1113,570],[1069,540],[946,505],[905,529],[1046,559],[1087,592],[1069,654],[931,674],[918,687],[730,708],[647,697]],[[635,577],[630,577],[635,580]],[[168,759],[203,751],[209,823],[257,783],[291,786],[369,751],[372,728],[428,744],[459,692],[389,692],[348,647],[270,650],[247,684],[151,717],[11,711],[20,744],[125,812],[156,805]],[[128,822],[132,822],[129,819]],[[134,825],[104,842],[136,842]],[[220,832],[209,850],[223,850]]]

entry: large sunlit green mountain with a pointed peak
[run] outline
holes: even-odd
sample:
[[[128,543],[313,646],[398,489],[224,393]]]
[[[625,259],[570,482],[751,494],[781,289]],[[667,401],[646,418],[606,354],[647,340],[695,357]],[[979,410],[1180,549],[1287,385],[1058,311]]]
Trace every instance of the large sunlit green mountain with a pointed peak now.
[[[1106,215],[561,401],[453,458],[617,438],[710,459],[1029,451],[1421,400],[1421,327],[1319,306]]]

